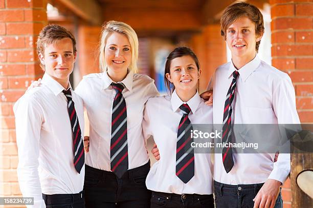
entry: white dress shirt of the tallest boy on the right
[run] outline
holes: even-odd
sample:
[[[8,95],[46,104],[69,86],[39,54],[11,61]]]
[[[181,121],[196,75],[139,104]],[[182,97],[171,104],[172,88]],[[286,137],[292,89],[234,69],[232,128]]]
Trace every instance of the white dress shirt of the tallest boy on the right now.
[[[219,66],[213,76],[213,121],[221,124],[226,95],[236,70],[232,62]],[[256,56],[238,70],[232,103],[232,124],[299,124],[295,90],[290,77]],[[262,141],[259,141],[262,142]],[[233,154],[234,167],[226,173],[221,153],[215,154],[214,179],[223,184],[258,184],[266,179],[284,183],[290,172],[290,154]]]

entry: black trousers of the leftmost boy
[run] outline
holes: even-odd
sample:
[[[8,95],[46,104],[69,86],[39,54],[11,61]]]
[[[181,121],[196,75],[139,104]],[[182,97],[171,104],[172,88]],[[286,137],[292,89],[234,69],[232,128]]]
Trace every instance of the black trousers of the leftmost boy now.
[[[42,194],[47,208],[84,208],[84,192],[78,194]]]

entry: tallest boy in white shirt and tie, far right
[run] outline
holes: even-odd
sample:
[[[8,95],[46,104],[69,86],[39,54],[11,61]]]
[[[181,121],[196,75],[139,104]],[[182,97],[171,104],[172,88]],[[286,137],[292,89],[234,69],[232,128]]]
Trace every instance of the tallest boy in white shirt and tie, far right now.
[[[264,32],[259,9],[235,3],[221,16],[221,35],[232,61],[213,76],[213,122],[222,124],[222,142],[231,141],[232,124],[300,123],[289,76],[257,56]],[[262,142],[262,141],[259,141]],[[290,172],[290,155],[215,154],[216,207],[282,207],[280,186]]]

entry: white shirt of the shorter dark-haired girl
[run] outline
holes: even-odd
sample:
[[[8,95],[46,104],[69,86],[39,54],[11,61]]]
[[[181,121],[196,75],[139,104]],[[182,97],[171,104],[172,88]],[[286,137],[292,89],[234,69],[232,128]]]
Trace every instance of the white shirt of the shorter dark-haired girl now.
[[[147,179],[149,190],[174,194],[212,194],[213,164],[209,153],[194,154],[194,176],[184,184],[176,176],[177,130],[183,116],[183,102],[176,91],[171,96],[153,97],[146,103],[143,129],[145,137],[153,136],[160,152],[160,160],[153,164]],[[192,124],[212,124],[212,107],[196,93],[187,101],[191,108],[188,118]]]

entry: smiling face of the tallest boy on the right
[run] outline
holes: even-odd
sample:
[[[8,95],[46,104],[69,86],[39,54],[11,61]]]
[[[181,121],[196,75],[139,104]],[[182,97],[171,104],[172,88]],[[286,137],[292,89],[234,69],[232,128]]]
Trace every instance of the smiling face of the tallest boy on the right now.
[[[243,16],[235,20],[226,30],[226,42],[232,59],[251,61],[256,55],[256,42],[261,40],[255,33],[255,23]]]

